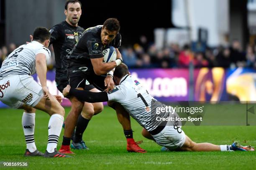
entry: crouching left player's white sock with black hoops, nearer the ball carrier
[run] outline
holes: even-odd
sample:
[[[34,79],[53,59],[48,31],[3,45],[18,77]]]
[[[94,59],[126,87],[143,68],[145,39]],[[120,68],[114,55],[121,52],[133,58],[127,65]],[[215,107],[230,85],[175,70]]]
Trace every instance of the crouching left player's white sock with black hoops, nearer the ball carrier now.
[[[63,121],[64,121],[63,116],[59,114],[51,115],[51,118],[48,124],[48,144],[46,148],[48,153],[53,153],[54,149],[57,148]]]

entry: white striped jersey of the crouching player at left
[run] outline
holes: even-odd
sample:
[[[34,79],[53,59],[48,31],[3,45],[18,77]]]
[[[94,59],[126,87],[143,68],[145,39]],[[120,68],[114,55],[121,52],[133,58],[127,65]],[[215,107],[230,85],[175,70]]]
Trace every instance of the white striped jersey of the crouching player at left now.
[[[43,53],[46,60],[51,56],[50,50],[37,41],[20,45],[3,61],[0,68],[0,80],[10,75],[33,75],[36,73],[36,55]]]

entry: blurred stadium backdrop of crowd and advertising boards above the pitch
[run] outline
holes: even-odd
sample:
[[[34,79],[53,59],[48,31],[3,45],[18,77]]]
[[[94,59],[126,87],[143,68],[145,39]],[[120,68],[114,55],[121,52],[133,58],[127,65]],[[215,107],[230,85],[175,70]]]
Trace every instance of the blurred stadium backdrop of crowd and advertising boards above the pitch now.
[[[64,0],[0,2],[1,60],[28,41],[35,27],[65,19]],[[255,0],[81,2],[84,28],[120,20],[123,60],[158,100],[256,100]],[[35,10],[39,6],[45,10]],[[49,89],[58,94],[51,55]]]

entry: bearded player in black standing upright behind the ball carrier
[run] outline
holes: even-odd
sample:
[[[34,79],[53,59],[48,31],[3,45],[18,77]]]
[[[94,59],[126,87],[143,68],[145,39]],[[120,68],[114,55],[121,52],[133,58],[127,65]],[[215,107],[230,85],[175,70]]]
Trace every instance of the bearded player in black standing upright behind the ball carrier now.
[[[65,4],[64,13],[66,20],[55,25],[51,28],[51,40],[50,43],[54,48],[54,55],[56,61],[56,86],[60,92],[68,84],[67,80],[67,57],[72,52],[74,45],[77,43],[79,37],[84,32],[84,28],[78,26],[78,21],[82,14],[81,2],[78,0],[68,0]],[[87,90],[93,92],[100,92],[93,85],[88,85]],[[84,103],[79,120],[85,118],[90,120],[92,115],[96,115],[103,110],[102,102],[98,103]],[[78,122],[79,122],[78,120]],[[81,123],[80,123],[81,124]],[[84,141],[79,141],[76,145],[73,145],[76,149],[88,149]]]

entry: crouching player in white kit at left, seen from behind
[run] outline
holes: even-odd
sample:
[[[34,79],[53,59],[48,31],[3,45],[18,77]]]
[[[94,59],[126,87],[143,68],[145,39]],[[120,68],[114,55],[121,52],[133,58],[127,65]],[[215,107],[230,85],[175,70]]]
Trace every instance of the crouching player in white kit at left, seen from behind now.
[[[16,109],[24,109],[22,126],[27,143],[25,156],[69,157],[56,150],[64,120],[61,97],[54,97],[46,87],[46,60],[51,53],[47,49],[50,32],[36,28],[34,40],[15,49],[3,61],[0,69],[0,100]],[[37,72],[41,85],[31,75]],[[34,141],[35,111],[47,112],[51,117],[48,124],[48,144],[43,154],[36,149]]]

